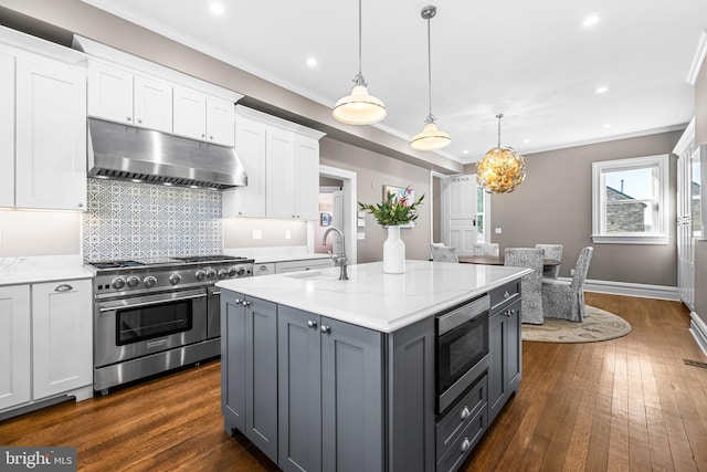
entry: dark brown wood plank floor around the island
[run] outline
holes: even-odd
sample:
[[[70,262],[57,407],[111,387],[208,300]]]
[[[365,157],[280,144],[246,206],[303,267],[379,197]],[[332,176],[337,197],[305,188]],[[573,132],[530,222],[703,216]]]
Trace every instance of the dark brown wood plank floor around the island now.
[[[679,303],[587,294],[629,319],[604,343],[524,343],[520,392],[466,471],[707,471],[706,361]],[[0,422],[0,445],[74,445],[81,471],[264,471],[223,431],[220,364]]]

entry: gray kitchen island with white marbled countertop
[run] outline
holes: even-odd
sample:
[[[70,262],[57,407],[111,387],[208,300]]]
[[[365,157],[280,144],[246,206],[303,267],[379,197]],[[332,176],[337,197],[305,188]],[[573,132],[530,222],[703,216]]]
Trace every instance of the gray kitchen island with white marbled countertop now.
[[[219,282],[225,430],[283,470],[458,469],[518,388],[527,272],[407,261]],[[486,306],[487,348],[442,405],[435,321],[467,306]]]

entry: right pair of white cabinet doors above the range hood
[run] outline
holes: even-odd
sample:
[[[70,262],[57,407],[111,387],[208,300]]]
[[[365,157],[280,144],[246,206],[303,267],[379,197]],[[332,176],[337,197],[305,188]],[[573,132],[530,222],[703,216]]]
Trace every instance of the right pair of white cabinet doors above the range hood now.
[[[223,146],[235,139],[235,105],[187,87],[173,91],[175,134]]]

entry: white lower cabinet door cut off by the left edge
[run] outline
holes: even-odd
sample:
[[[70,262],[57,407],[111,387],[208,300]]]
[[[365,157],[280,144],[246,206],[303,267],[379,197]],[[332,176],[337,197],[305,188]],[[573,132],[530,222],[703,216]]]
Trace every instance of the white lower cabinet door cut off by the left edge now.
[[[0,286],[0,411],[31,399],[30,286]]]

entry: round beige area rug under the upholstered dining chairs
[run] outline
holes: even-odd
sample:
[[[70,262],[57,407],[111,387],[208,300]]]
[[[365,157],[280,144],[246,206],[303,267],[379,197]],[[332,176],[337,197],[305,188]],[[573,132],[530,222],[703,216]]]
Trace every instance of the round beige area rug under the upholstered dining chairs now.
[[[587,305],[581,323],[545,318],[541,325],[523,325],[523,340],[540,343],[595,343],[631,333],[631,324],[606,311]]]

